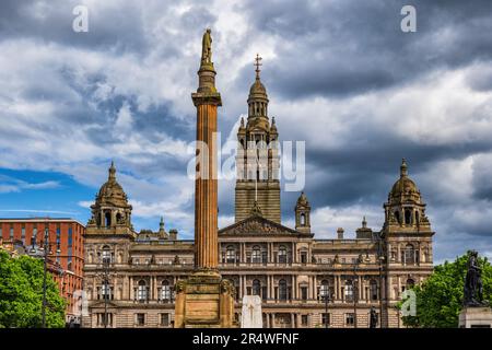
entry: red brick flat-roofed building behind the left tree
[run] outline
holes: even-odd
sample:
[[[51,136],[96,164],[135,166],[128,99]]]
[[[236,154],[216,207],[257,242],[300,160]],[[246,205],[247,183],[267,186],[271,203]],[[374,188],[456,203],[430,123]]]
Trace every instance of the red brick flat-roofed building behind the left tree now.
[[[45,238],[45,230],[49,232],[51,255],[48,256],[48,268],[57,267],[58,273],[52,273],[58,283],[61,296],[67,300],[67,320],[73,314],[73,293],[83,287],[83,236],[85,226],[73,219],[22,218],[0,219],[0,237],[5,242],[22,242],[27,254]],[[57,252],[59,249],[59,253]],[[52,272],[52,271],[51,271]]]

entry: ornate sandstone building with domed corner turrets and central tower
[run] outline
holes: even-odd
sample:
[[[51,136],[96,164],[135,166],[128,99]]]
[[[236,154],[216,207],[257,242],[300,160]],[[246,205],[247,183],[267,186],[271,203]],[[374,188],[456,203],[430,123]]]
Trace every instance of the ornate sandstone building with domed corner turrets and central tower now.
[[[278,155],[268,147],[278,137],[257,66],[248,120],[237,132],[236,220],[219,230],[219,269],[234,283],[236,318],[243,295],[257,294],[265,327],[368,327],[371,306],[379,326],[401,327],[395,306],[432,272],[434,234],[406,161],[384,203],[380,230],[364,219],[355,238],[339,229],[337,238],[318,240],[304,192],[293,206],[295,228],[281,223]],[[248,152],[259,167],[248,168]],[[84,241],[89,315],[82,326],[173,327],[175,285],[194,271],[194,242],[179,240],[163,220],[159,231],[137,233],[113,164],[91,209]]]

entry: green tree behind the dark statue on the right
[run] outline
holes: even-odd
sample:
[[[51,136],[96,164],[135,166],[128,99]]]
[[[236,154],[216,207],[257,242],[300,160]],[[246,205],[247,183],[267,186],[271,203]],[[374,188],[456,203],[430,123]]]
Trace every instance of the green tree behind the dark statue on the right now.
[[[434,267],[433,273],[412,290],[417,296],[417,315],[403,316],[409,327],[456,328],[461,311],[468,255],[457,257],[455,261]],[[492,266],[487,258],[479,257],[482,268],[483,300],[492,295]],[[405,301],[399,303],[399,307]]]

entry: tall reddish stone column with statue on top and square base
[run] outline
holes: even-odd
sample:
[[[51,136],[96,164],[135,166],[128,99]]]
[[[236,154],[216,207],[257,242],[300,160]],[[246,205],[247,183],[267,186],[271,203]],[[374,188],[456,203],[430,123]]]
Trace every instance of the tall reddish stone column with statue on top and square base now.
[[[197,107],[197,165],[195,180],[195,272],[176,282],[175,327],[234,327],[234,285],[218,270],[216,107],[211,31],[202,39]]]

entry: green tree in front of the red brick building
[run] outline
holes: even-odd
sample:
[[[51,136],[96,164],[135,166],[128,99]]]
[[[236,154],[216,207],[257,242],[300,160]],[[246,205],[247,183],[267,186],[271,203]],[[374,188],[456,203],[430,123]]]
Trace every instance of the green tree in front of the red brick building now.
[[[43,273],[43,260],[0,250],[0,328],[42,326]],[[66,302],[49,272],[46,301],[46,327],[63,327]]]

